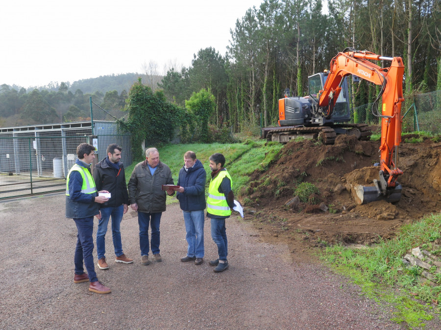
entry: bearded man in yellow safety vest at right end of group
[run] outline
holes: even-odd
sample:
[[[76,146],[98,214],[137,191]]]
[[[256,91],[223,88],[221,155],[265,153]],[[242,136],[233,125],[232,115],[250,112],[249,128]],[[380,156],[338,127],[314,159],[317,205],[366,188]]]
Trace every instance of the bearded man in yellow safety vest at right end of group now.
[[[234,207],[234,194],[231,190],[233,181],[228,171],[223,167],[225,157],[223,154],[212,154],[210,158],[211,182],[208,188],[207,217],[211,219],[211,237],[218,246],[219,258],[210,261],[216,266],[215,272],[228,268],[227,254],[228,242],[226,237],[225,219],[231,215]]]

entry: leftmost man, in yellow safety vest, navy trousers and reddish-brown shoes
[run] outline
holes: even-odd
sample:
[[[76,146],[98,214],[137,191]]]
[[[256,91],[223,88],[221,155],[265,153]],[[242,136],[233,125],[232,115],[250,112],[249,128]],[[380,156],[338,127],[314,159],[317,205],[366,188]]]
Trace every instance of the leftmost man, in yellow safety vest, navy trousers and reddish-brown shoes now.
[[[95,147],[81,143],[76,148],[78,159],[66,177],[66,218],[75,221],[78,234],[76,235],[75,276],[73,283],[89,281],[89,291],[109,293],[111,290],[98,282],[94,266],[94,216],[100,219],[98,204],[105,203],[108,198],[98,193],[108,193],[103,190],[97,192],[95,181],[90,171],[90,164],[95,158]],[[87,273],[83,267],[86,266]]]

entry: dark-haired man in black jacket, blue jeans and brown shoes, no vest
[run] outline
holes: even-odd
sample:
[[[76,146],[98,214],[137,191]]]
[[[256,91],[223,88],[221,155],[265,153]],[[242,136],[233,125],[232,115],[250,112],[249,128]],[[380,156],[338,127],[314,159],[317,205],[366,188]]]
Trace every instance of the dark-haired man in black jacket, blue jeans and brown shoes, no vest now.
[[[97,253],[99,269],[108,269],[106,262],[105,236],[107,224],[112,217],[112,239],[117,263],[130,264],[133,259],[127,258],[121,242],[121,221],[128,210],[128,193],[125,184],[124,166],[121,160],[122,148],[116,144],[107,147],[107,156],[95,165],[94,180],[98,190],[110,192],[110,199],[101,205],[101,219],[98,222]]]

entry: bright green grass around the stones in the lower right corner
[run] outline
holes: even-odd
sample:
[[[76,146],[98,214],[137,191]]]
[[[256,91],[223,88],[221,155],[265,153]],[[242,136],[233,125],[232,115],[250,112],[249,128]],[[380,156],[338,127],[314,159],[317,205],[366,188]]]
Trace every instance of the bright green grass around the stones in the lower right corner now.
[[[379,238],[378,244],[365,249],[352,249],[343,245],[327,247],[322,259],[350,276],[369,296],[394,305],[397,308],[394,321],[406,321],[411,328],[422,327],[423,320],[431,319],[432,314],[438,317],[441,315],[441,308],[430,304],[432,301],[441,302],[441,281],[433,287],[420,285],[418,277],[421,268],[406,266],[402,258],[417,246],[440,256],[440,249],[432,244],[440,238],[440,231],[441,215],[432,215],[401,227],[392,240]],[[441,276],[438,278],[441,279]],[[389,292],[386,288],[391,287],[400,290],[398,293]],[[410,293],[419,301],[411,298]]]

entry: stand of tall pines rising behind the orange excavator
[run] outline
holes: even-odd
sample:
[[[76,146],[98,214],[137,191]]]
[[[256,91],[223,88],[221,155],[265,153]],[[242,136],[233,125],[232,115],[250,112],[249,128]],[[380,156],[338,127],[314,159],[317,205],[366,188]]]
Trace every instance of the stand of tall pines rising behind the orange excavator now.
[[[439,22],[439,0],[329,0],[326,14],[321,0],[265,0],[237,20],[224,56],[201,49],[192,66],[170,69],[159,87],[181,106],[200,88],[210,90],[216,100],[210,123],[235,132],[259,121],[276,124],[277,100],[285,88],[306,95],[308,76],[329,69],[346,47],[401,56],[407,96],[438,90]],[[373,102],[379,91],[364,80],[350,89],[352,107]]]

